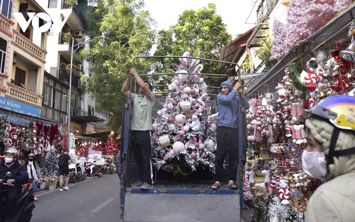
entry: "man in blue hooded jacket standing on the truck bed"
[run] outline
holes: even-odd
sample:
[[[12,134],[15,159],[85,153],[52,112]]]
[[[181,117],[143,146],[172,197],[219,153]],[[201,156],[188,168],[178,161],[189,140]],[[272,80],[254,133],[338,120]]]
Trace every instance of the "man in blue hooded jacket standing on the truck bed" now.
[[[242,82],[235,84],[234,88],[230,81],[222,82],[220,94],[217,96],[218,107],[218,128],[217,128],[217,150],[215,153],[215,180],[211,189],[220,188],[220,182],[223,175],[223,162],[228,152],[229,170],[228,170],[228,188],[238,189],[235,185],[236,168],[239,161],[238,151],[238,97],[237,93],[242,96],[242,105],[249,109],[249,102],[243,96]]]

